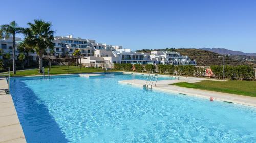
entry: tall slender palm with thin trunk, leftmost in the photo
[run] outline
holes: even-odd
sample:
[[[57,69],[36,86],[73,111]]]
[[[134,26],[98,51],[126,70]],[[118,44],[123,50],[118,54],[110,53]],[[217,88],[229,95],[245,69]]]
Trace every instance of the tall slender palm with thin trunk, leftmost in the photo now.
[[[6,37],[12,35],[12,59],[13,59],[13,74],[16,74],[16,61],[15,61],[15,35],[16,33],[23,33],[24,28],[18,27],[18,24],[15,21],[12,21],[9,25],[2,25],[1,31],[5,33]]]

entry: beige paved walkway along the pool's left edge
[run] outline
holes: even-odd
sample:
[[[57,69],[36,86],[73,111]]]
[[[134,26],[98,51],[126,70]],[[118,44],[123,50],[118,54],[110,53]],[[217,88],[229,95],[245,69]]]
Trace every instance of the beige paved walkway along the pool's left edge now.
[[[6,94],[8,84],[5,78],[0,78],[0,142],[26,142],[22,126],[10,94]]]

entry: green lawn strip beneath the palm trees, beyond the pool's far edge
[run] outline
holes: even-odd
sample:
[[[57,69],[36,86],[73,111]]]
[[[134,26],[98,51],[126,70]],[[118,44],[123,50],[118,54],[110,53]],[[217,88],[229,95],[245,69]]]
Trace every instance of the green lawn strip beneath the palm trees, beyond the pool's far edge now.
[[[45,68],[45,75],[48,74],[48,68]],[[82,67],[81,70],[79,67],[76,66],[51,66],[50,74],[68,74],[68,73],[89,73],[89,72],[103,72],[102,68],[84,68]],[[111,70],[114,71],[114,70]],[[6,74],[8,72],[0,73],[0,74]],[[28,70],[21,70],[16,71],[16,75],[13,75],[11,72],[11,76],[32,76],[32,75],[42,75],[38,73],[38,68],[34,69],[28,69]]]

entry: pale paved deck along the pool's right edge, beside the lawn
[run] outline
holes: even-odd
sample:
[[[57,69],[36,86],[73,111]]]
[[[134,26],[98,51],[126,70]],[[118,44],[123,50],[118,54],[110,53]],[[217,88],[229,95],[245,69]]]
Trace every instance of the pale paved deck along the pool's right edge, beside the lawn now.
[[[197,79],[160,80],[157,82],[156,86],[155,85],[152,86],[152,89],[159,90],[159,91],[165,91],[165,92],[187,94],[187,95],[191,95],[191,96],[207,98],[209,100],[210,100],[210,97],[213,97],[214,100],[226,101],[226,102],[232,102],[232,103],[238,103],[238,104],[256,107],[256,97],[184,88],[184,87],[178,87],[175,85],[168,85],[168,84],[184,82],[184,81],[194,83],[194,82],[198,82],[199,80],[197,80]],[[119,83],[143,87],[143,85],[145,85],[146,81],[135,79],[135,80],[123,80],[123,81],[119,81]]]

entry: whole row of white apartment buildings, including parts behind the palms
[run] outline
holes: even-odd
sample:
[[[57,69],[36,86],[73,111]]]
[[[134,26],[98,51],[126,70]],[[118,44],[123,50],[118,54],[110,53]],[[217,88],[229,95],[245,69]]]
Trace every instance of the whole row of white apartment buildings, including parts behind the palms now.
[[[18,44],[21,38],[16,38],[16,55]],[[177,52],[151,51],[150,53],[134,52],[131,49],[123,49],[122,46],[112,46],[108,44],[96,43],[95,40],[74,38],[72,35],[54,37],[54,55],[72,56],[76,49],[80,49],[81,54],[87,59],[81,59],[81,63],[132,63],[132,64],[172,64],[172,65],[196,65],[195,60],[190,60],[188,56],[180,55]],[[12,38],[2,38],[0,48],[4,53],[12,55]],[[50,50],[47,51],[49,53]],[[30,53],[31,59],[35,60],[36,53]]]

